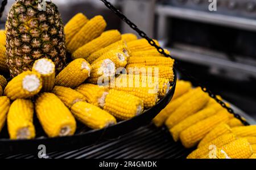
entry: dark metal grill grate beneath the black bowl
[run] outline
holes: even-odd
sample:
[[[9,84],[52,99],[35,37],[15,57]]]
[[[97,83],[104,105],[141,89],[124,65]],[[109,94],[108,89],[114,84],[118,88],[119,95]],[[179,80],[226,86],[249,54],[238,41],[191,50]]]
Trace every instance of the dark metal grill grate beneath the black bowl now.
[[[166,128],[154,125],[139,128],[115,140],[74,151],[52,152],[49,158],[185,158],[192,150],[174,142]],[[0,158],[37,158],[35,155],[0,155]]]

